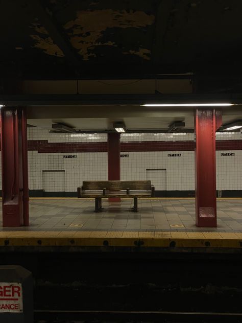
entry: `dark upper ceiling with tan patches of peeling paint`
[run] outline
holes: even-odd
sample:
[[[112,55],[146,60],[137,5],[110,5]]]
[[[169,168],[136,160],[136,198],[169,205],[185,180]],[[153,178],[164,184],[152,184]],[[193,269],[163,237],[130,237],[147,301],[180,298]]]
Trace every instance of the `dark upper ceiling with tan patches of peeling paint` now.
[[[240,91],[241,1],[8,0],[0,10],[2,78],[194,73],[199,90]]]

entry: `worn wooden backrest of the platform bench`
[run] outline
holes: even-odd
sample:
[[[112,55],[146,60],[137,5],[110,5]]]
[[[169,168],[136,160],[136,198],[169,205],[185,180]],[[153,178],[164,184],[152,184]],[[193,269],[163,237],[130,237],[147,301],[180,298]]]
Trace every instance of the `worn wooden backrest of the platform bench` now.
[[[109,191],[120,191],[120,190],[151,190],[150,180],[86,180],[82,183],[82,189],[96,191],[107,189]]]

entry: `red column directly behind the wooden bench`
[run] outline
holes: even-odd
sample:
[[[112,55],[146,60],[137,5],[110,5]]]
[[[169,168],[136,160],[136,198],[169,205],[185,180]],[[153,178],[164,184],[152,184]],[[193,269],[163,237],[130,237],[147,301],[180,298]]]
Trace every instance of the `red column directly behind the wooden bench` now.
[[[108,180],[120,180],[120,133],[108,133]],[[120,198],[109,198],[119,202]]]

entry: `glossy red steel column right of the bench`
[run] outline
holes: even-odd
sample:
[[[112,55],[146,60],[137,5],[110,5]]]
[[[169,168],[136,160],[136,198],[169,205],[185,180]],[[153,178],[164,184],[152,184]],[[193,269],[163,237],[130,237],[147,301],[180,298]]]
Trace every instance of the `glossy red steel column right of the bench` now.
[[[195,112],[195,190],[196,225],[216,227],[215,132],[222,124],[222,114],[215,109]]]

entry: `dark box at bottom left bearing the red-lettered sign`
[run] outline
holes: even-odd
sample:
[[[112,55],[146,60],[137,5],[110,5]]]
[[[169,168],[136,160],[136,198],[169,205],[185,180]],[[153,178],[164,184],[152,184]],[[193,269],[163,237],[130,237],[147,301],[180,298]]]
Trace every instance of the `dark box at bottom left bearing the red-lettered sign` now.
[[[21,266],[0,266],[0,322],[33,321],[32,273]]]

